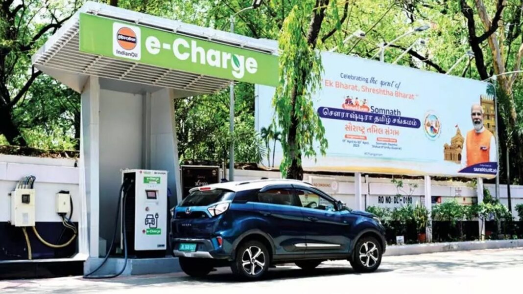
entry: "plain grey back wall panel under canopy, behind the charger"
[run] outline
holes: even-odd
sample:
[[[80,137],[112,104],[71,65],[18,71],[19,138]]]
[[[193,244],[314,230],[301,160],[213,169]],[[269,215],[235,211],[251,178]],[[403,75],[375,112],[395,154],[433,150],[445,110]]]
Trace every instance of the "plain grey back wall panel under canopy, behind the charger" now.
[[[120,170],[142,168],[142,107],[142,95],[100,89],[99,227],[107,245],[115,226]]]

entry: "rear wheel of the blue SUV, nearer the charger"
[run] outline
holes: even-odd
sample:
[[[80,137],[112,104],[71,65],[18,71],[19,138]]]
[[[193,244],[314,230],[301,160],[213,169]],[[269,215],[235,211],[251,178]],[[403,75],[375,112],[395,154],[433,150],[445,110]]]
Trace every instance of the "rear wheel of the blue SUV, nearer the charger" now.
[[[231,263],[232,272],[244,280],[260,279],[270,265],[269,251],[258,241],[247,241],[236,248],[236,256]]]

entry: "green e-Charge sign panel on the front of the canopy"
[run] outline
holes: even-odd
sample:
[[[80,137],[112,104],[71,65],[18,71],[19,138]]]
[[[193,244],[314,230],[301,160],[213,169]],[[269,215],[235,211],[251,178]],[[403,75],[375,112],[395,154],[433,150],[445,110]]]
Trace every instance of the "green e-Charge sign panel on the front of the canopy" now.
[[[85,13],[80,14],[79,50],[194,74],[278,85],[275,55]]]

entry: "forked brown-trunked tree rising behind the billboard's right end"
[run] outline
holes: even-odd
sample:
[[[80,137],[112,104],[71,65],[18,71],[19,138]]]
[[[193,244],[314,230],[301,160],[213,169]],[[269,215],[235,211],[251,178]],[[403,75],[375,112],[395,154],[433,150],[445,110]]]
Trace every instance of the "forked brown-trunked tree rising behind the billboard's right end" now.
[[[512,142],[521,142],[523,138],[519,136],[517,131],[514,131],[519,125],[518,121],[523,120],[523,117],[517,114],[517,102],[513,95],[514,85],[519,74],[517,72],[521,68],[521,60],[523,58],[523,42],[519,45],[514,43],[521,35],[523,0],[511,1],[510,4],[515,9],[508,11],[505,10],[508,6],[507,0],[496,0],[496,6],[493,8],[494,17],[492,19],[488,14],[488,8],[492,10],[492,7],[486,7],[482,0],[474,0],[474,4],[475,10],[468,5],[467,1],[460,0],[461,11],[467,18],[469,43],[474,51],[476,68],[480,78],[484,80],[493,74],[497,75],[499,89],[496,100],[498,101],[499,110],[500,113],[505,112],[509,114],[501,116],[504,118],[502,124],[504,132],[500,135],[507,147],[505,152],[509,152],[509,148],[514,146]],[[476,35],[475,17],[480,19],[483,26],[484,31],[480,36]],[[505,31],[506,27],[508,27],[508,31]],[[481,44],[485,41],[488,43],[488,49],[490,49],[492,58],[491,72],[487,72],[486,62],[483,58],[483,49],[481,48]],[[510,55],[513,48],[518,48],[515,56]],[[507,74],[512,71],[516,73]],[[498,120],[497,123],[500,124],[501,121]],[[518,148],[515,155],[517,161],[521,163],[523,161],[521,148]],[[508,168],[506,167],[506,169]],[[521,164],[518,164],[517,167],[517,177],[523,178],[523,167]]]

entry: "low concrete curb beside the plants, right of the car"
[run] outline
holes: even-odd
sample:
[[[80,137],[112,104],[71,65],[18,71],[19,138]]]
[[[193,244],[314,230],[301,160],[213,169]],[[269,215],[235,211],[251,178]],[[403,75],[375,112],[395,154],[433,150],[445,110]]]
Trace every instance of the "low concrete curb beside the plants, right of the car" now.
[[[523,239],[389,245],[383,256],[523,247]]]

